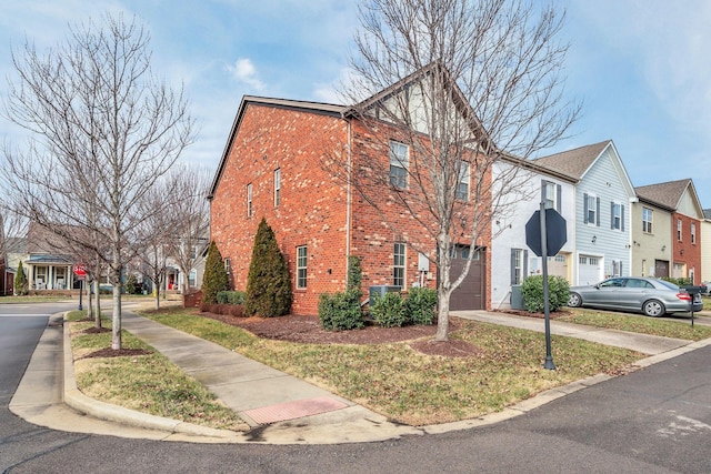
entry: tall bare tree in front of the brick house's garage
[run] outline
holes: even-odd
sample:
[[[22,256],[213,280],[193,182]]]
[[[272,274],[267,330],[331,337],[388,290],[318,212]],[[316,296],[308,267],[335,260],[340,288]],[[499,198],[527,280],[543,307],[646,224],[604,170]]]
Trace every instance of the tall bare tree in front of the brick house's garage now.
[[[579,113],[559,74],[567,46],[555,37],[564,14],[527,0],[372,0],[359,13],[354,73],[341,92],[357,104],[351,113],[362,133],[381,140],[390,160],[340,160],[337,168],[398,235],[435,262],[435,340],[445,341],[450,295],[474,255],[451,275],[451,251],[481,245],[513,201],[505,196],[520,190],[521,167],[492,174],[494,163],[553,145]],[[390,149],[391,139],[404,148]],[[419,235],[403,232],[403,215],[420,225]]]

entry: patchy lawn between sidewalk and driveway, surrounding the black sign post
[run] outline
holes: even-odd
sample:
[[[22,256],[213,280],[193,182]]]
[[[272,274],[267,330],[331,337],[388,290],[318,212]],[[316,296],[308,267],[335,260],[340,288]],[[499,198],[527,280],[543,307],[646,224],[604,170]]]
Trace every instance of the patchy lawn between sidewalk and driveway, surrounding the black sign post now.
[[[601,372],[617,373],[642,354],[553,336],[557,371],[542,367],[544,335],[464,321],[451,333],[480,349],[475,357],[424,355],[407,342],[297,344],[256,337],[193,310],[143,315],[304,379],[410,425],[472,418]]]

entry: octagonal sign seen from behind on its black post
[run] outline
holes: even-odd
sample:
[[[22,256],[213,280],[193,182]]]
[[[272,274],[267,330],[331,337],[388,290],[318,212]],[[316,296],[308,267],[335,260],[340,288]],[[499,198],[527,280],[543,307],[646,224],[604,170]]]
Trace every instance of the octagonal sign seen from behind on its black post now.
[[[555,255],[568,240],[565,235],[565,220],[554,209],[545,209],[541,202],[541,210],[535,211],[525,223],[525,243],[542,260],[543,272],[543,315],[545,316],[545,363],[543,369],[555,370],[551,353],[551,306],[548,289],[548,254]]]

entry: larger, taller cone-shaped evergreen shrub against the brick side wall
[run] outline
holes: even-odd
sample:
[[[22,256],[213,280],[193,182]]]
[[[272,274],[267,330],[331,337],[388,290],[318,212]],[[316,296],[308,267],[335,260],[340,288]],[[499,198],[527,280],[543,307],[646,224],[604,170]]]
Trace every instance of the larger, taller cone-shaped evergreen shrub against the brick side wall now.
[[[287,260],[279,250],[274,232],[262,218],[254,236],[252,261],[247,278],[244,314],[282,316],[291,310],[291,279]]]

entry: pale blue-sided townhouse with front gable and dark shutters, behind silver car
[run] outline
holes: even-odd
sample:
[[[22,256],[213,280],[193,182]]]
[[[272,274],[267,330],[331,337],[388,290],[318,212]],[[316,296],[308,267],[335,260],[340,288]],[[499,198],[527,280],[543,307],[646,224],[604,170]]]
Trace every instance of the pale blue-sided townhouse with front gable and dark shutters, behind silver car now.
[[[572,284],[631,273],[630,209],[634,188],[611,140],[533,160],[575,184]]]

